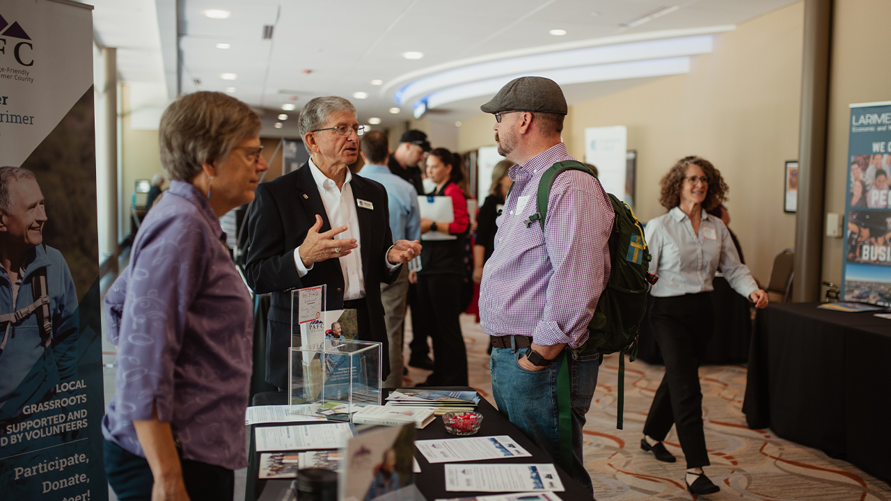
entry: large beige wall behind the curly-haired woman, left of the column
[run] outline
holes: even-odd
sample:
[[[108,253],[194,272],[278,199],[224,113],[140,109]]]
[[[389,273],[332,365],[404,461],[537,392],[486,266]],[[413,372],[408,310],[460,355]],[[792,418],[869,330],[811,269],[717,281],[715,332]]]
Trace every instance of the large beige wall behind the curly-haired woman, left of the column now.
[[[661,78],[569,107],[563,138],[584,158],[584,128],[624,125],[636,150],[635,212],[665,212],[658,182],[674,161],[711,160],[730,185],[726,206],[753,274],[766,282],[774,254],[795,243],[785,214],[785,160],[798,155],[804,5],[792,4],[715,37],[686,75]],[[491,115],[465,120],[461,150],[494,144]]]

